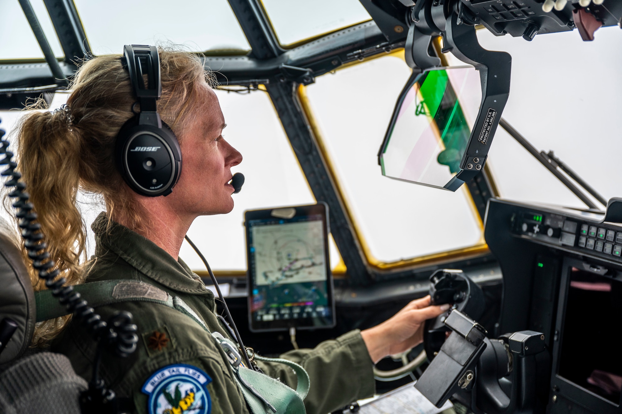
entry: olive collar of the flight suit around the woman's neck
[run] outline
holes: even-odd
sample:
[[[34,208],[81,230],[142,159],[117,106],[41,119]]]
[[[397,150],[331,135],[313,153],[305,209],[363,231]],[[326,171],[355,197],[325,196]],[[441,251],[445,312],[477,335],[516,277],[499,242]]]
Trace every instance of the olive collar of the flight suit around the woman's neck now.
[[[114,221],[108,224],[108,214],[100,213],[91,228],[95,232],[96,257],[113,252],[136,270],[167,288],[213,296],[201,278],[193,274],[182,259],[173,259],[154,242],[122,224]]]

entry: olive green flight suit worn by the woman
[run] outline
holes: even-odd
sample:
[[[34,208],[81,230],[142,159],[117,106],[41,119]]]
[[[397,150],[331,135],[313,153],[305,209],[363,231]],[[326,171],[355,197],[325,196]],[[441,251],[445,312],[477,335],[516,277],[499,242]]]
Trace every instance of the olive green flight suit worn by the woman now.
[[[130,279],[150,283],[169,295],[181,298],[211,331],[230,338],[215,315],[213,293],[180,259],[174,260],[153,242],[118,223],[106,229],[108,218],[101,213],[93,223],[96,237],[95,264],[87,282]],[[223,349],[196,321],[177,310],[157,303],[134,301],[96,309],[107,320],[115,311],[134,316],[139,342],[128,358],[104,353],[101,375],[114,392],[134,400],[137,413],[147,412],[147,395],[141,388],[156,370],[170,364],[188,364],[205,371],[213,414],[248,413],[244,397],[233,379],[233,370]],[[96,343],[78,323],[70,323],[53,343],[52,350],[67,355],[78,375],[91,377]],[[314,349],[290,351],[281,358],[300,364],[310,377],[304,403],[309,414],[327,414],[374,393],[373,363],[360,331],[325,341]],[[271,377],[296,387],[292,369],[276,362],[258,362]]]

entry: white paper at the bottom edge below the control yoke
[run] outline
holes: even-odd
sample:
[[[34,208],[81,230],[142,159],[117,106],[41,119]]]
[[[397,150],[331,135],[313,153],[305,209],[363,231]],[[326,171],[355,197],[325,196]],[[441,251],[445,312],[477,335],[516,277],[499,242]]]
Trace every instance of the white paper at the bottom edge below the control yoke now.
[[[447,400],[443,407],[436,408],[414,384],[411,382],[361,405],[358,414],[438,414],[453,407]]]

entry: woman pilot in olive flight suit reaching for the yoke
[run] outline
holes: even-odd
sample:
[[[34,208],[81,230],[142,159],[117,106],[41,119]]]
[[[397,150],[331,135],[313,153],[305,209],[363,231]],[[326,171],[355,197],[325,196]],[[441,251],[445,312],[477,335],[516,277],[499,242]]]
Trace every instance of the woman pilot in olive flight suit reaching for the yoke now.
[[[210,334],[230,338],[216,317],[214,295],[179,258],[183,237],[195,218],[233,209],[233,186],[228,182],[231,167],[242,161],[242,155],[221,135],[225,119],[202,62],[191,53],[174,50],[159,50],[159,56],[162,98],[157,111],[179,139],[183,159],[179,182],[170,195],[135,193],[115,165],[116,136],[134,116],[136,102],[119,55],[95,57],[82,65],[64,111],[33,111],[22,119],[17,143],[21,172],[50,254],[69,283],[147,283],[157,292],[180,298],[196,316],[189,318],[150,301],[97,308],[104,320],[118,310],[131,312],[139,330],[137,350],[130,357],[104,356],[101,375],[106,384],[117,395],[131,398],[137,413],[191,408],[196,413],[248,413],[232,366]],[[79,188],[101,196],[106,205],[92,225],[95,255],[84,265],[80,264],[86,236],[77,208]],[[32,280],[35,289],[44,288],[38,278]],[[421,343],[423,322],[447,308],[430,306],[430,298],[422,298],[374,328],[357,329],[315,349],[282,355],[309,374],[307,413],[325,414],[373,395],[374,362]],[[96,343],[78,323],[67,318],[41,323],[34,343],[49,341],[53,351],[70,358],[79,375],[90,378]],[[290,367],[261,361],[258,366],[296,387],[297,377]],[[154,395],[152,385],[171,372],[179,374],[175,387]],[[193,405],[194,394],[190,398],[184,391],[193,375],[204,380],[207,405]],[[154,398],[162,403],[154,403]]]

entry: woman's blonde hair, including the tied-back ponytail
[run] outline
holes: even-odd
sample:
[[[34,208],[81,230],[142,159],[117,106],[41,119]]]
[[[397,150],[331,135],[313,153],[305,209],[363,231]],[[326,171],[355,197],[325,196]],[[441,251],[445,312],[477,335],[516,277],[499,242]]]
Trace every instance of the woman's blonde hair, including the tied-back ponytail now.
[[[159,48],[159,55],[162,98],[157,109],[179,137],[192,104],[206,91],[199,84],[213,81],[192,53]],[[86,229],[77,206],[78,190],[100,195],[109,218],[116,211],[123,212],[134,229],[146,223],[114,163],[116,135],[134,116],[132,105],[137,100],[121,57],[102,55],[86,61],[70,89],[65,111],[30,111],[22,117],[16,154],[50,258],[67,283],[75,285],[83,283],[86,276]],[[44,289],[30,260],[26,262],[32,286]],[[37,324],[32,344],[47,343],[69,319],[65,316]]]

